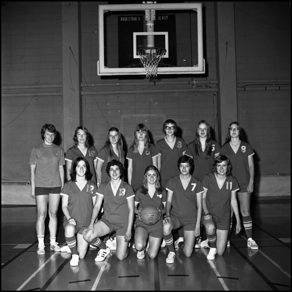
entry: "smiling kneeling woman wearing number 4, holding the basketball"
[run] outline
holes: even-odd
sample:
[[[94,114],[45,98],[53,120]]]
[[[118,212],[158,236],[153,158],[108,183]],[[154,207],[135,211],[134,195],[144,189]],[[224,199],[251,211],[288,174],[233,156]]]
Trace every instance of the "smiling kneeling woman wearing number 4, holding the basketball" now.
[[[135,191],[135,213],[138,215],[135,223],[135,248],[138,251],[137,258],[139,259],[142,259],[145,256],[144,250],[147,239],[149,241],[149,257],[155,258],[157,256],[162,239],[162,205],[165,208],[165,204],[166,190],[160,185],[158,169],[155,166],[150,165],[145,169],[144,185]],[[159,210],[159,221],[154,225],[146,225],[140,218],[140,212],[146,206],[154,206]]]

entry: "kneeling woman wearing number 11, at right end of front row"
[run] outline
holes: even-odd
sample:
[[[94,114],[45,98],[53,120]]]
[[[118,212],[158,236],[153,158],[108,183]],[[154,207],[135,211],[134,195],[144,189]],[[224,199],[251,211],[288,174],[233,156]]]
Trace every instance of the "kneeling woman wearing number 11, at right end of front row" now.
[[[239,186],[231,171],[229,159],[225,155],[219,155],[215,158],[212,173],[207,174],[202,181],[202,223],[207,239],[201,242],[201,247],[210,248],[208,260],[214,260],[216,253],[221,256],[225,251],[230,226],[230,204],[236,216],[236,234],[241,231],[236,199]]]

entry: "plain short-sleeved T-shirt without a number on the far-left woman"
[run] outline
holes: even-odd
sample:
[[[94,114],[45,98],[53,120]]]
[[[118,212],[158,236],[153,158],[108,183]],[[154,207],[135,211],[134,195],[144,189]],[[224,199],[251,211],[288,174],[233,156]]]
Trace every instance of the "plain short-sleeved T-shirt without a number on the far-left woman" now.
[[[30,164],[36,165],[35,187],[61,187],[59,166],[65,164],[64,150],[61,147],[44,143],[33,147]]]

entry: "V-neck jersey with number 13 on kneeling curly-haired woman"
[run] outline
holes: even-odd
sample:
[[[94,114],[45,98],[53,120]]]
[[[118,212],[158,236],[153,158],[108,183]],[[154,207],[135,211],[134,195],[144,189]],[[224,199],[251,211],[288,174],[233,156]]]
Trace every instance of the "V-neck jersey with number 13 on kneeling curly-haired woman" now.
[[[104,215],[102,218],[113,225],[128,222],[129,209],[127,201],[135,197],[131,185],[121,180],[116,194],[114,194],[111,181],[108,181],[99,186],[97,195],[102,196],[104,200]]]

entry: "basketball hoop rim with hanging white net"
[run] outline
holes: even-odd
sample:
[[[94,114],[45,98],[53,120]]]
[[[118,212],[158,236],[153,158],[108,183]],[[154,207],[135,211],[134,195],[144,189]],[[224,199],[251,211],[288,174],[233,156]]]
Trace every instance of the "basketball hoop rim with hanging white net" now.
[[[146,78],[156,78],[157,66],[163,59],[166,50],[164,48],[141,48],[138,50],[140,60],[146,69]]]

